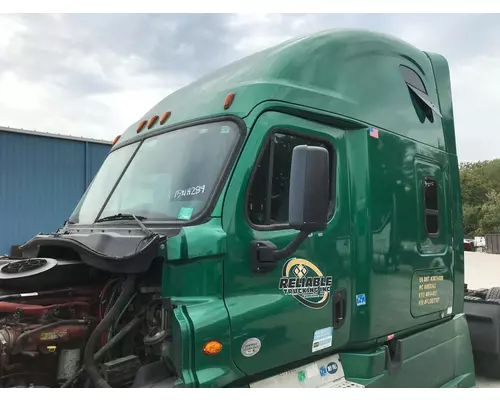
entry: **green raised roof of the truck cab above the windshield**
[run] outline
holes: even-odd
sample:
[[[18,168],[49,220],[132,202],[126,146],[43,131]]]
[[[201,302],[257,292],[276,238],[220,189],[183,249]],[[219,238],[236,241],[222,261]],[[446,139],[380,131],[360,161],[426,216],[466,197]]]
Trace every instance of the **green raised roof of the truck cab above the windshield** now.
[[[449,108],[444,110],[444,117],[452,118],[451,93],[446,92],[448,65],[443,57],[433,57],[438,57],[438,64],[444,68],[440,76],[447,80],[440,91],[441,97],[450,97],[443,103]],[[426,119],[419,114],[401,66],[421,79],[437,118]],[[279,101],[404,132],[445,149],[434,73],[429,54],[392,36],[362,30],[320,32],[255,53],[177,90],[132,124],[121,141],[137,137],[141,121],[165,112],[171,114],[164,125],[159,118],[151,128],[145,124],[139,135],[224,114],[245,118],[257,105]],[[235,98],[224,110],[229,93]]]

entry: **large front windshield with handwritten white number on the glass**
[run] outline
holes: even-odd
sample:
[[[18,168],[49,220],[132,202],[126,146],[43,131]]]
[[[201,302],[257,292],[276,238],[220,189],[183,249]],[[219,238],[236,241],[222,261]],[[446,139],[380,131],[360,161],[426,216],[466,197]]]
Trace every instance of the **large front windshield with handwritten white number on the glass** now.
[[[113,151],[69,222],[93,224],[117,214],[147,221],[195,218],[207,205],[238,135],[234,122],[213,122]]]

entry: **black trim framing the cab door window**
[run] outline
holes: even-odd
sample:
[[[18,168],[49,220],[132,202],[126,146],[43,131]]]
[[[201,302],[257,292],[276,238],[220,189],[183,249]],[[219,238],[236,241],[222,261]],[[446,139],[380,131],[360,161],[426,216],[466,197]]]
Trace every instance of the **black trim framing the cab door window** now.
[[[276,231],[276,230],[291,229],[290,224],[288,224],[288,223],[287,224],[274,224],[274,225],[254,224],[250,220],[250,215],[248,213],[248,202],[250,199],[250,190],[252,188],[253,181],[255,179],[255,175],[257,174],[257,169],[259,167],[259,164],[260,164],[262,158],[264,157],[267,146],[269,145],[269,142],[271,141],[271,138],[273,137],[273,135],[275,133],[297,136],[297,137],[300,137],[303,139],[312,139],[312,140],[316,140],[320,143],[324,143],[327,146],[328,152],[331,154],[331,162],[332,162],[331,171],[330,171],[332,173],[331,180],[330,180],[330,186],[331,186],[330,191],[331,191],[332,198],[330,200],[330,206],[329,206],[328,217],[327,217],[328,221],[330,221],[330,219],[335,214],[335,197],[337,195],[337,186],[336,186],[336,184],[335,185],[332,184],[333,182],[337,182],[337,180],[334,179],[336,177],[336,173],[337,173],[337,152],[335,150],[335,146],[332,144],[331,141],[329,141],[328,139],[322,138],[321,136],[319,136],[317,134],[307,134],[307,133],[303,133],[303,132],[293,130],[290,128],[281,128],[279,126],[274,126],[266,133],[266,139],[264,140],[264,143],[259,151],[259,155],[258,155],[258,157],[257,157],[257,159],[252,167],[250,179],[248,180],[247,188],[245,189],[245,219],[246,219],[248,225],[256,231]]]

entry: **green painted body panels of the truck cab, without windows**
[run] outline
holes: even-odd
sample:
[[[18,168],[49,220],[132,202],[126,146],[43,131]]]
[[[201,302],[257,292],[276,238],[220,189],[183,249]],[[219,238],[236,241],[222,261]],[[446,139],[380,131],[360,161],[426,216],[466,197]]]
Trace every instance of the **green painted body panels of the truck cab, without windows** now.
[[[424,118],[400,65],[419,73],[442,118]],[[230,92],[236,96],[224,110]],[[460,185],[449,68],[442,56],[385,35],[323,32],[216,71],[166,97],[141,120],[165,111],[172,112],[166,125],[137,134],[138,121],[118,146],[216,116],[239,117],[247,128],[211,218],[183,226],[167,240],[162,294],[176,306],[171,354],[177,386],[247,386],[256,376],[273,376],[334,353],[341,354],[347,377],[367,386],[475,385],[461,314]],[[370,127],[378,129],[378,138],[370,136]],[[314,354],[314,332],[332,326],[333,296],[325,307],[309,309],[278,289],[287,260],[266,274],[251,268],[252,241],[283,248],[298,233],[259,230],[246,218],[252,170],[275,129],[321,138],[336,155],[335,209],[328,227],[293,255],[332,276],[332,293],[347,292],[347,314],[334,328],[332,346]],[[427,176],[439,182],[440,229],[433,236],[427,234],[424,212]],[[179,220],[188,221],[191,214],[183,208]],[[439,301],[419,304],[420,278],[432,276],[442,280],[437,296],[428,298]],[[366,306],[355,306],[357,293],[369,299]],[[452,314],[443,315],[449,307]],[[391,375],[382,346],[393,333],[404,354],[401,370]],[[241,346],[252,337],[262,348],[244,357]],[[223,350],[207,357],[203,345],[214,338]],[[305,379],[304,371],[298,379]]]

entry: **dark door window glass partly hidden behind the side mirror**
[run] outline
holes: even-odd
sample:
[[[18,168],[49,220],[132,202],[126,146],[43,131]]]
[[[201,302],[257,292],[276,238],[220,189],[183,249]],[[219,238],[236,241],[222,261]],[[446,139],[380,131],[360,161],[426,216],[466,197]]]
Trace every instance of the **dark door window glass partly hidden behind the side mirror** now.
[[[252,224],[269,226],[288,223],[292,152],[299,145],[326,148],[330,153],[330,165],[334,166],[333,151],[325,142],[292,134],[272,134],[261,152],[248,193],[247,213]],[[332,204],[333,192],[330,196]]]

